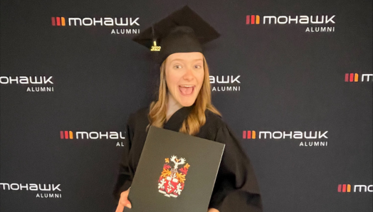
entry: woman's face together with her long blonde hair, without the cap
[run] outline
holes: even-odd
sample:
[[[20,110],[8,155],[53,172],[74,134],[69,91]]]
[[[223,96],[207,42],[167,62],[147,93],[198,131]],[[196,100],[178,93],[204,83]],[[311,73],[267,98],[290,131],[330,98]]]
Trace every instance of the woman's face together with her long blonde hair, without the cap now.
[[[173,53],[163,61],[160,70],[159,97],[150,105],[149,125],[163,127],[174,112],[194,103],[196,107],[180,132],[196,134],[206,122],[206,109],[220,115],[211,105],[209,68],[202,53]]]

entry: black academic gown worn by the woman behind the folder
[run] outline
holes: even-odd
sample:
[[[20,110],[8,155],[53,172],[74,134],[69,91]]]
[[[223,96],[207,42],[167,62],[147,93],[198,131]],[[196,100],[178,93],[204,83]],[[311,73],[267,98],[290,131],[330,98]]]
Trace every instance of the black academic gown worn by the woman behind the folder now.
[[[172,117],[164,124],[164,129],[179,132],[191,108],[182,107],[174,112]],[[138,110],[130,115],[127,122],[127,143],[124,147],[125,150],[120,162],[120,173],[113,193],[117,200],[120,198],[120,193],[126,191],[132,184],[147,137],[148,114],[149,108]],[[251,166],[240,142],[219,115],[209,110],[206,110],[205,114],[206,124],[201,127],[196,137],[226,144],[209,208],[216,208],[221,211],[224,198],[232,191],[239,191],[239,194],[246,198],[247,206],[243,206],[243,208],[251,208],[251,211],[262,211],[261,196],[253,166]]]

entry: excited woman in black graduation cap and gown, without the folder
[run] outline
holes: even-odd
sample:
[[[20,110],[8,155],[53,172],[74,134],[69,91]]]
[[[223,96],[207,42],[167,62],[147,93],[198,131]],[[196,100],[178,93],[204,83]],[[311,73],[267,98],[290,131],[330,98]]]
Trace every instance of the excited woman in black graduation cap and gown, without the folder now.
[[[186,7],[177,12],[183,17],[194,13]],[[195,14],[193,16],[196,21]],[[168,18],[165,19],[168,21]],[[204,26],[208,27],[211,26]],[[154,28],[152,32],[154,36]],[[209,68],[197,37],[201,36],[196,36],[193,28],[175,26],[162,38],[158,100],[132,114],[127,123],[128,144],[114,192],[119,198],[116,212],[122,212],[125,206],[131,208],[127,196],[151,125],[226,144],[208,212],[219,212],[224,198],[232,191],[241,191],[252,211],[261,211],[261,196],[250,161],[218,110],[211,105]]]

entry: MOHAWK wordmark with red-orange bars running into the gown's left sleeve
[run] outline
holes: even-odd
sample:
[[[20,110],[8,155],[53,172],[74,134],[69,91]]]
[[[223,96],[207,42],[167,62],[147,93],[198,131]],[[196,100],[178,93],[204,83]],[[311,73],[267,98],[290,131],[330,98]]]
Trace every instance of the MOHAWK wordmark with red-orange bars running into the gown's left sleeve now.
[[[61,131],[61,139],[74,139],[73,131]],[[75,139],[125,139],[122,132],[75,132]]]

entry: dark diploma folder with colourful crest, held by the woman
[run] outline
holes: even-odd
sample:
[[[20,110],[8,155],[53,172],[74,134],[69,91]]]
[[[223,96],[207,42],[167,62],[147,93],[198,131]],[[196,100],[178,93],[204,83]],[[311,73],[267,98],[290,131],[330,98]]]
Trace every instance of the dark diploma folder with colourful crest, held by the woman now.
[[[125,212],[206,212],[225,144],[149,127]]]

